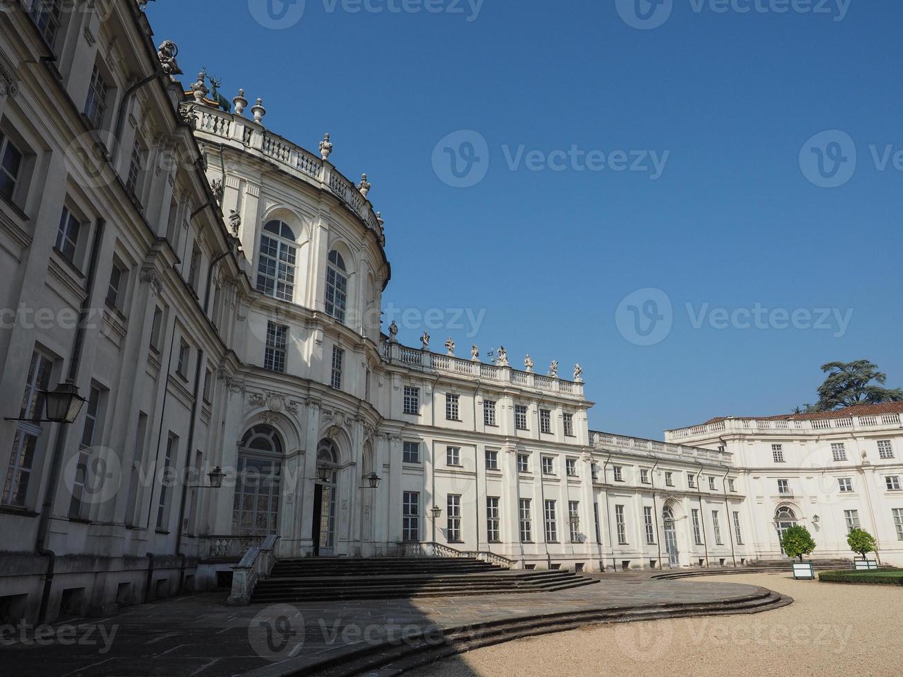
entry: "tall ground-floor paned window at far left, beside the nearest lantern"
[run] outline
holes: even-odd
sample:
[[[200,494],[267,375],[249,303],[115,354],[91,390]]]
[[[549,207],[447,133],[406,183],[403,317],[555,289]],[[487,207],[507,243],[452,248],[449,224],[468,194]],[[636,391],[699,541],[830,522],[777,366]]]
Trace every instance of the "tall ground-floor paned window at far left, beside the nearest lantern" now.
[[[32,362],[25,379],[25,390],[22,397],[22,408],[19,417],[23,419],[39,419],[43,416],[44,395],[51,382],[53,363],[49,357],[35,350]],[[13,449],[6,467],[6,478],[3,487],[2,502],[6,505],[25,505],[29,481],[32,478],[34,456],[41,437],[40,423],[30,421],[16,422],[13,436]]]

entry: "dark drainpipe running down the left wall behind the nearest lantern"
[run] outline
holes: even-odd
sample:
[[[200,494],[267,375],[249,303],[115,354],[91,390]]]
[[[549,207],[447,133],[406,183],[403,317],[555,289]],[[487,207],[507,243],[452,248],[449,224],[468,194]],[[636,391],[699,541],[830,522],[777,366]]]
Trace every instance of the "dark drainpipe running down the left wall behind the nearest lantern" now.
[[[97,227],[95,228],[94,241],[91,243],[91,255],[88,263],[88,277],[85,281],[85,300],[81,301],[81,309],[79,310],[79,326],[75,330],[75,341],[72,344],[72,354],[69,360],[68,378],[75,383],[79,378],[79,366],[81,365],[81,351],[85,345],[85,324],[90,314],[91,298],[94,296],[94,287],[97,283],[98,275],[98,258],[100,256],[100,246],[104,238],[107,222],[103,218],[98,218]],[[53,587],[53,574],[56,567],[56,553],[47,549],[47,532],[50,529],[51,513],[53,512],[53,502],[56,497],[57,489],[60,486],[60,471],[62,468],[62,456],[66,449],[66,435],[64,434],[62,424],[57,426],[57,437],[53,445],[53,455],[51,457],[51,471],[48,478],[47,488],[44,491],[44,502],[41,507],[41,517],[38,522],[38,534],[34,543],[34,550],[42,557],[47,558],[47,570],[44,572],[44,587],[41,594],[41,606],[38,609],[38,623],[43,623],[47,617],[47,605],[51,598],[51,588]]]

